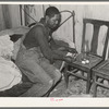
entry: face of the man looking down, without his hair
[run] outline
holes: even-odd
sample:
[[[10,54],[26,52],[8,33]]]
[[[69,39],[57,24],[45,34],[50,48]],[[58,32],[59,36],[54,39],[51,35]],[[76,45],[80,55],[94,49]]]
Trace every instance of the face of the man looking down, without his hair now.
[[[48,17],[47,25],[49,28],[58,28],[59,24],[61,22],[61,15],[60,14],[55,14],[52,17]]]

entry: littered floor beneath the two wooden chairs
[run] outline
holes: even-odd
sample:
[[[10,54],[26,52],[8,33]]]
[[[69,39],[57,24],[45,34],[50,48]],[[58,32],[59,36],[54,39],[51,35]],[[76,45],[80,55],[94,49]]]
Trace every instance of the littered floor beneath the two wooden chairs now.
[[[86,82],[83,80],[75,80],[73,76],[70,76],[69,87],[65,88],[64,81],[61,81],[60,84],[52,90],[50,97],[93,97],[93,86],[90,93],[86,94]],[[109,97],[109,89],[98,87],[97,97]]]

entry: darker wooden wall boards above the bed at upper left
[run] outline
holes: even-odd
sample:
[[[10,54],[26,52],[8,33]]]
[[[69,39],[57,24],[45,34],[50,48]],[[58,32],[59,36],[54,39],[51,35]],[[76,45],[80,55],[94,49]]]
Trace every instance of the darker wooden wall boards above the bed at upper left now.
[[[21,25],[19,4],[0,4],[0,31]]]

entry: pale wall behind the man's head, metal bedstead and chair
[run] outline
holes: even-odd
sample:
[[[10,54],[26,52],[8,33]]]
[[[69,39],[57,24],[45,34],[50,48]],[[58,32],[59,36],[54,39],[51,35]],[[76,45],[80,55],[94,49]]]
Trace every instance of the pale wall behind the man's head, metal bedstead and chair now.
[[[81,43],[82,43],[82,27],[83,27],[83,17],[89,19],[98,19],[109,21],[109,5],[99,5],[99,4],[46,4],[46,5],[33,5],[29,8],[29,14],[35,17],[36,21],[44,15],[44,10],[46,10],[49,5],[57,7],[60,11],[69,10],[75,12],[75,46],[77,51],[81,51]],[[29,5],[28,5],[29,7]],[[69,17],[70,13],[62,13],[62,21]],[[31,20],[32,22],[32,20]],[[63,39],[71,44],[73,41],[73,22],[70,19],[65,22],[55,34],[53,37],[58,39]],[[100,48],[100,47],[99,47]]]

